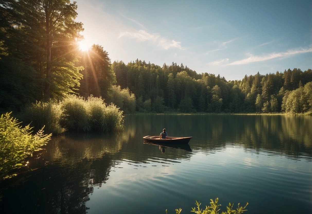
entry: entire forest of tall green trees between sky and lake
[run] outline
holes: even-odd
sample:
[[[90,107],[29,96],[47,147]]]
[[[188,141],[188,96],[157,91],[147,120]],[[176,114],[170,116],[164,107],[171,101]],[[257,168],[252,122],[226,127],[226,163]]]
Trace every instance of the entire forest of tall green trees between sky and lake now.
[[[83,23],[75,22],[76,10],[69,0],[0,0],[1,113],[21,112],[36,101],[59,102],[69,94],[102,97],[124,113],[312,109],[311,69],[226,80],[182,63],[111,63],[103,46],[79,50]]]

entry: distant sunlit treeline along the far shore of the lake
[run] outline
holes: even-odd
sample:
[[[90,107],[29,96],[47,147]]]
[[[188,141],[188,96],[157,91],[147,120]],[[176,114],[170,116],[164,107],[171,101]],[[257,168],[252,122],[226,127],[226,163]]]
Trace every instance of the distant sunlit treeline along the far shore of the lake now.
[[[227,81],[220,75],[197,74],[187,66],[145,61],[114,62],[117,85],[136,96],[142,112],[292,112],[312,108],[312,70],[294,68]],[[151,104],[151,105],[149,105]]]

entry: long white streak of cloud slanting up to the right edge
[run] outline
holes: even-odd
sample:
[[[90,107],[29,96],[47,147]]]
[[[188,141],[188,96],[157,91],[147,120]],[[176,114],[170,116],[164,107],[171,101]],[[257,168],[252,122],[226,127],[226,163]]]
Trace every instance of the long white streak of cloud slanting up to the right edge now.
[[[267,61],[267,60],[271,60],[271,59],[274,59],[274,58],[284,58],[284,57],[289,57],[289,56],[294,56],[294,55],[297,55],[297,54],[303,54],[303,53],[309,53],[309,52],[312,52],[312,47],[301,48],[301,49],[297,49],[297,50],[288,50],[286,52],[280,52],[280,53],[270,53],[270,54],[263,55],[263,56],[250,55],[246,59],[234,61],[234,62],[228,63],[226,65],[227,66],[231,66],[231,65],[244,65],[244,64],[248,64],[248,63],[252,63],[252,62]]]

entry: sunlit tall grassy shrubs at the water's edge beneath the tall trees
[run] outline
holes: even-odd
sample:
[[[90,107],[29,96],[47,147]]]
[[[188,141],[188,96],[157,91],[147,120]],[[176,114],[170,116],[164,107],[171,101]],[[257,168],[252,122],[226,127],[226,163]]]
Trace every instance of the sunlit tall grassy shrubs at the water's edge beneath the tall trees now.
[[[88,99],[69,95],[60,103],[37,102],[30,105],[24,120],[35,127],[46,125],[46,131],[61,134],[66,130],[79,132],[114,132],[123,129],[123,111],[114,104],[106,106],[101,98]]]

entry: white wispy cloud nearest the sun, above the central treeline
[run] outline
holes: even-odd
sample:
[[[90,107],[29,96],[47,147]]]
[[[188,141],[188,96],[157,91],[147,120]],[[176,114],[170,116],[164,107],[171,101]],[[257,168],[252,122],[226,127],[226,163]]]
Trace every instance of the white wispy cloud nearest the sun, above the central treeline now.
[[[118,38],[123,36],[138,39],[139,41],[152,41],[165,50],[168,50],[169,48],[178,48],[180,50],[186,49],[181,46],[181,42],[169,40],[166,37],[160,36],[159,33],[149,33],[144,30],[139,30],[137,32],[120,32]]]

